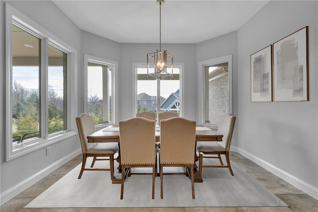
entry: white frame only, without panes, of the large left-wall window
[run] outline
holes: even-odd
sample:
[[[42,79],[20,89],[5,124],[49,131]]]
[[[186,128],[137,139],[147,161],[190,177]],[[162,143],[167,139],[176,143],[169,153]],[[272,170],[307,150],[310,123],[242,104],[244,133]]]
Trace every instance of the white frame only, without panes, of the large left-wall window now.
[[[21,26],[27,32],[36,35],[42,39],[42,48],[41,48],[41,69],[43,74],[41,75],[41,90],[42,93],[39,93],[42,98],[41,104],[41,138],[34,139],[32,142],[26,142],[26,145],[23,148],[18,148],[13,152],[12,146],[12,24],[17,24]],[[5,140],[6,140],[6,161],[12,160],[19,156],[28,154],[37,149],[43,148],[45,146],[51,145],[58,141],[63,141],[67,138],[77,135],[77,128],[75,126],[75,117],[77,115],[77,51],[45,28],[35,23],[33,20],[5,3],[5,41],[6,41],[6,51],[5,51]],[[67,71],[67,130],[48,135],[48,100],[47,100],[47,91],[48,91],[48,44],[57,47],[63,52],[68,54],[68,71]],[[72,109],[71,109],[72,106]]]

